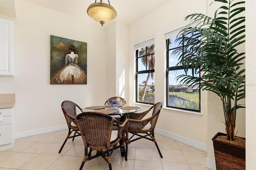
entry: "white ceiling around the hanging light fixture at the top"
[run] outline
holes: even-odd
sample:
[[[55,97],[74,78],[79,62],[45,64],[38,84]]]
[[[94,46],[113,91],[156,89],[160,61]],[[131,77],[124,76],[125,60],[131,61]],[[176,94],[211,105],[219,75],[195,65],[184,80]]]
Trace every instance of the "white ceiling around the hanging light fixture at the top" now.
[[[92,20],[86,10],[95,0],[22,0],[50,10],[83,20]],[[158,6],[170,0],[110,0],[110,5],[116,9],[116,21],[131,24]],[[0,0],[0,14],[16,18],[15,0]],[[97,0],[100,2],[100,0]],[[102,0],[108,4],[108,0]],[[110,22],[111,23],[111,22]],[[105,25],[104,25],[105,26]],[[107,26],[107,24],[106,24]]]

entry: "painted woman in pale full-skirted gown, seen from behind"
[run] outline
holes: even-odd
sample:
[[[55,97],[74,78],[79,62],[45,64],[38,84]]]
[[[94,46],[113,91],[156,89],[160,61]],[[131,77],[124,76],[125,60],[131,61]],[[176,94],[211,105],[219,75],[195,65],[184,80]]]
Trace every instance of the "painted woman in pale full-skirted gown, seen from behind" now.
[[[66,45],[65,45],[66,46]],[[65,55],[64,65],[58,65],[59,71],[55,71],[55,74],[52,74],[51,84],[87,84],[87,75],[86,72],[78,65],[78,60],[80,56],[76,53],[76,47],[74,45],[70,45],[69,53]],[[53,52],[53,51],[52,51]],[[54,55],[54,54],[53,54]],[[56,55],[56,53],[55,53]],[[57,60],[58,61],[58,60]],[[54,63],[52,61],[52,63]],[[56,63],[56,62],[55,62]],[[56,64],[55,64],[56,65]],[[52,73],[52,70],[51,70]]]

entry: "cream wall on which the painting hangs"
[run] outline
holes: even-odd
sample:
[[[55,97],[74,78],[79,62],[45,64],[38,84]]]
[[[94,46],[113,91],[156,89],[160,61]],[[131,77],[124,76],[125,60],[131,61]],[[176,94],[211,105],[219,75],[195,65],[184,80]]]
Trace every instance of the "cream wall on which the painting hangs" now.
[[[61,103],[106,101],[106,28],[16,0],[14,77],[0,76],[0,93],[16,93],[15,132],[65,125]],[[50,85],[50,35],[86,42],[87,85]]]

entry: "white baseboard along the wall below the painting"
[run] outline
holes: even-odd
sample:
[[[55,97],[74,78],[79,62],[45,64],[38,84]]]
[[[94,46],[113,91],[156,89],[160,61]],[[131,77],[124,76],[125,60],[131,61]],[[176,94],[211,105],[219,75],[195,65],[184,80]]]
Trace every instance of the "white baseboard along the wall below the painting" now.
[[[40,128],[40,129],[35,129],[35,130],[28,130],[25,132],[17,132],[17,133],[15,133],[15,138],[16,139],[24,138],[24,137],[28,137],[28,136],[34,136],[37,134],[54,132],[54,131],[63,130],[63,129],[67,129],[67,128],[68,128],[68,125],[65,124],[65,125],[59,125],[59,126],[55,126],[55,127]]]

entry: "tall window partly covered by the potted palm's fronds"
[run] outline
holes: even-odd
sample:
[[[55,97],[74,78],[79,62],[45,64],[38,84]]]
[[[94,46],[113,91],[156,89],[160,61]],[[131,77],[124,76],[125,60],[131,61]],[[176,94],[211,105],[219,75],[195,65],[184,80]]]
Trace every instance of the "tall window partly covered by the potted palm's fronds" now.
[[[181,30],[181,29],[180,29]],[[200,112],[200,88],[199,86],[183,85],[179,75],[186,74],[182,65],[179,65],[178,53],[173,53],[179,49],[183,52],[184,42],[179,45],[175,42],[180,30],[165,34],[166,37],[166,106],[176,109]],[[183,38],[182,38],[183,41]],[[192,70],[188,70],[187,75],[192,75]],[[200,75],[196,74],[196,77]]]

